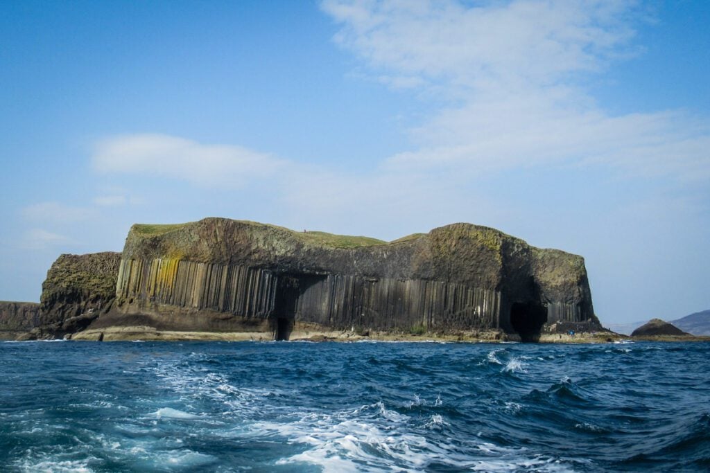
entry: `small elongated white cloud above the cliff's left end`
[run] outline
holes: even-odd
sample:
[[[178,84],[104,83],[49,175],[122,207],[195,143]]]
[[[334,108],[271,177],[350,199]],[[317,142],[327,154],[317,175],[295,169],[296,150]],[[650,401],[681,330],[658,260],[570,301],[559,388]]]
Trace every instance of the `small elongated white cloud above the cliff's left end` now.
[[[239,187],[273,175],[283,162],[234,145],[204,145],[158,134],[121,135],[100,140],[92,156],[99,172],[153,174],[194,184]]]

